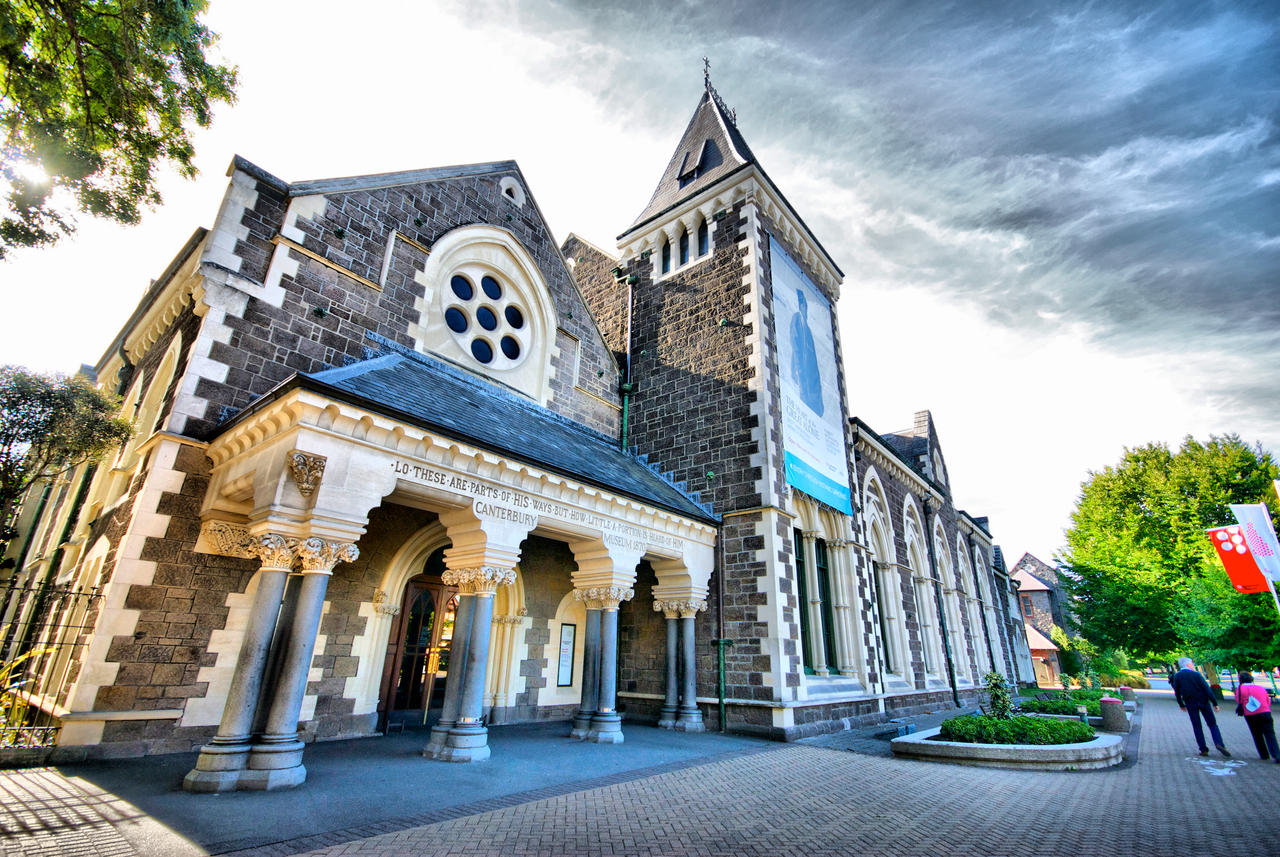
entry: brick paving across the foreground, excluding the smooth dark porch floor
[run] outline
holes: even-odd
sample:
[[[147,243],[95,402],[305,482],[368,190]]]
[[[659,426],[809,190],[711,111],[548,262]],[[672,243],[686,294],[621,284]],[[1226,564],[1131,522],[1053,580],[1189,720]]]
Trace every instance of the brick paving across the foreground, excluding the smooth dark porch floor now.
[[[1230,705],[1221,724],[1233,759],[1201,759],[1187,718],[1170,696],[1142,696],[1140,730],[1130,742],[1137,760],[1110,771],[1039,774],[905,761],[883,755],[882,742],[840,737],[827,746],[739,742],[701,759],[451,806],[434,824],[422,822],[434,820],[431,814],[415,824],[388,807],[385,817],[366,817],[358,826],[315,829],[241,851],[219,849],[209,833],[205,844],[179,837],[168,829],[177,817],[148,817],[84,776],[51,769],[9,771],[0,778],[4,853],[1271,853],[1280,833],[1272,815],[1280,765],[1257,760]],[[837,748],[841,743],[854,752]],[[500,761],[485,765],[497,771]],[[440,770],[443,778],[456,769]],[[320,790],[308,783],[293,799],[346,799]],[[255,798],[257,807],[266,807],[261,798],[275,796],[237,797],[247,799],[232,815],[255,807]],[[232,808],[218,805],[227,796],[180,798],[175,815],[182,807]],[[288,812],[276,808],[282,806],[273,805],[273,811]]]

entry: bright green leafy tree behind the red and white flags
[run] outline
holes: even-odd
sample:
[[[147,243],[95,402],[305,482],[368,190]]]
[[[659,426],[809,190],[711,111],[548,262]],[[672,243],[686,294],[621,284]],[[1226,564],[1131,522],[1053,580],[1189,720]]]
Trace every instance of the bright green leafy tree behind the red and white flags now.
[[[1234,523],[1231,503],[1267,503],[1275,517],[1276,475],[1268,453],[1235,435],[1204,444],[1188,436],[1176,452],[1128,449],[1116,467],[1091,473],[1064,556],[1083,636],[1139,657],[1189,646],[1202,657],[1235,651],[1225,660],[1275,663],[1271,596],[1236,594],[1204,530]],[[1244,627],[1252,631],[1242,634]],[[1233,650],[1233,640],[1244,649]]]

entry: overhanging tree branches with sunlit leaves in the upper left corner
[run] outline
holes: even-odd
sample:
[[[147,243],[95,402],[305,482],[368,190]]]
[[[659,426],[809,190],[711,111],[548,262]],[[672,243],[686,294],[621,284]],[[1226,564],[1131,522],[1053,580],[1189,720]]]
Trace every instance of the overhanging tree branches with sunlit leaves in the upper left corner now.
[[[70,200],[132,224],[161,202],[161,165],[196,174],[187,123],[209,127],[236,86],[234,68],[205,60],[206,5],[0,0],[0,258],[69,234]]]

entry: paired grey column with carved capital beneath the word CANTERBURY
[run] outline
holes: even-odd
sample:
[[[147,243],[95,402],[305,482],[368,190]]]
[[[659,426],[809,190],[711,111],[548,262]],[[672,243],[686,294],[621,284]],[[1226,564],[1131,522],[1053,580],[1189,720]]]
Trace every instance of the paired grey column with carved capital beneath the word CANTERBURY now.
[[[475,596],[471,614],[471,642],[467,646],[466,672],[462,677],[462,695],[458,700],[458,720],[449,729],[444,746],[433,759],[448,762],[479,762],[489,759],[489,730],[483,723],[484,684],[489,666],[489,637],[493,633],[493,596],[499,586],[516,581],[511,568],[448,569],[442,579],[457,586],[458,592]]]

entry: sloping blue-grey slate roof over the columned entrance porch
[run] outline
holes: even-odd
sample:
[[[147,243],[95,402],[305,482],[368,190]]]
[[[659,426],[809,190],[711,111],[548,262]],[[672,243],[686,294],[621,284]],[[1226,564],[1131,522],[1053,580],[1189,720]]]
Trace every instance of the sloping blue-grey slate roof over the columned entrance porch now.
[[[416,352],[397,350],[340,368],[300,372],[242,416],[294,388],[439,431],[686,518],[719,521],[695,496],[620,450],[612,437]]]

